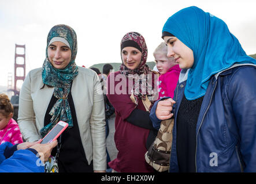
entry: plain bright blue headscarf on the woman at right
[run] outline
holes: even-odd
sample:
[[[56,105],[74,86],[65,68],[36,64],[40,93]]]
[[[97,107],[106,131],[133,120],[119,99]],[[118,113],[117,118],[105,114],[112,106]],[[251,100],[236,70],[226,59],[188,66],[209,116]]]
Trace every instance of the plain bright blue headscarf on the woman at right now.
[[[162,29],[162,33],[165,32],[175,35],[193,51],[194,64],[188,72],[184,91],[188,100],[205,95],[212,75],[233,64],[256,64],[255,59],[246,55],[224,21],[196,6],[169,17]]]

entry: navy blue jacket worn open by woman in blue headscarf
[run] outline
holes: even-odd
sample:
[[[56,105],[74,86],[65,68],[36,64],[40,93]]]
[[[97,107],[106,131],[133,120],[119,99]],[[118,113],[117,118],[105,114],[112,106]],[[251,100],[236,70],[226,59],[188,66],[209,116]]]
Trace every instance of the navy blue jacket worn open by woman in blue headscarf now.
[[[185,84],[186,79],[179,80],[173,98],[175,126],[169,172],[179,172],[176,118]],[[155,116],[157,103],[150,112],[155,128],[161,122]],[[196,172],[256,172],[255,155],[256,66],[242,64],[210,79],[196,125]]]

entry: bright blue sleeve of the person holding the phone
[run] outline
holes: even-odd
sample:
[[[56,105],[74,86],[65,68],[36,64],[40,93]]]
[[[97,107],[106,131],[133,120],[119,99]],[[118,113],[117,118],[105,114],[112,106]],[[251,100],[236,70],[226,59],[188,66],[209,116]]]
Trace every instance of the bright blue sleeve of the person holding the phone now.
[[[10,158],[5,158],[6,148],[13,147],[12,143],[0,145],[0,173],[44,173],[44,166],[31,150],[18,150]]]

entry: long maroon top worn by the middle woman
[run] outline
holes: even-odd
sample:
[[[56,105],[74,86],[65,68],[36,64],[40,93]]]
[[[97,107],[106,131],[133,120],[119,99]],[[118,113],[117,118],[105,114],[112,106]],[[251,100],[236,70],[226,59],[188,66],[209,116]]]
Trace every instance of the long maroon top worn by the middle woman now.
[[[123,77],[116,81],[117,75]],[[135,104],[130,99],[131,94],[128,94],[132,90],[132,85],[125,86],[125,83],[128,84],[128,79],[119,71],[110,74],[107,78],[107,98],[116,110],[114,141],[118,150],[117,158],[109,162],[109,166],[115,171],[124,173],[153,172],[153,168],[144,159],[150,130],[126,121],[135,109]],[[120,91],[123,93],[119,94]],[[137,109],[146,111],[141,100]]]

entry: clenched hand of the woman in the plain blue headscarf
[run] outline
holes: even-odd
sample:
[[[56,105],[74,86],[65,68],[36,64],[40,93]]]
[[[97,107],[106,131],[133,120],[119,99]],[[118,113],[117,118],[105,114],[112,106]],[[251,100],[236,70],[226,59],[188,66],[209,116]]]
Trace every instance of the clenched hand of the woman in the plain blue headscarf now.
[[[159,101],[157,104],[157,109],[155,110],[155,115],[159,120],[168,120],[173,116],[172,107],[176,102],[172,98],[164,99]]]

